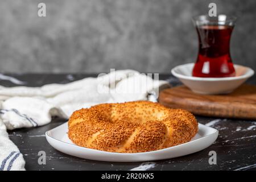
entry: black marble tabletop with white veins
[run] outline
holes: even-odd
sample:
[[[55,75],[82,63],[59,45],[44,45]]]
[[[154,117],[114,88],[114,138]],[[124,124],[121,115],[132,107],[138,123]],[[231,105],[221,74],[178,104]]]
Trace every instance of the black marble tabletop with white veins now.
[[[52,82],[67,83],[80,78],[96,75],[85,74],[7,74],[26,81],[26,86],[41,86]],[[171,75],[160,75],[160,79],[167,79],[173,85],[180,84]],[[256,77],[250,78],[251,84],[256,83]],[[0,85],[15,86],[10,81],[0,80]],[[203,151],[182,156],[175,159],[159,160],[152,163],[150,170],[255,170],[256,169],[256,121],[243,119],[210,118],[197,116],[200,123],[212,126],[219,131],[219,136]],[[18,129],[9,131],[10,139],[19,147],[26,160],[27,170],[129,170],[140,166],[142,163],[115,163],[99,162],[94,160],[79,159],[63,154],[51,147],[45,137],[45,132],[61,123],[65,119],[52,118],[46,126],[33,129]],[[38,164],[38,152],[45,151],[46,165]],[[209,151],[216,151],[217,164],[210,165]]]

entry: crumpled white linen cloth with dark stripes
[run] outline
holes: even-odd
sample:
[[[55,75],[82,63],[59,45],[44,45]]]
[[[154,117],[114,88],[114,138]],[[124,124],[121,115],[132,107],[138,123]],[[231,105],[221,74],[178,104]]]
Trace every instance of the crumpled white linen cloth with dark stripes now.
[[[24,170],[25,164],[6,129],[46,125],[52,116],[69,118],[75,110],[101,103],[155,100],[159,89],[168,86],[133,70],[36,88],[0,86],[0,171]]]

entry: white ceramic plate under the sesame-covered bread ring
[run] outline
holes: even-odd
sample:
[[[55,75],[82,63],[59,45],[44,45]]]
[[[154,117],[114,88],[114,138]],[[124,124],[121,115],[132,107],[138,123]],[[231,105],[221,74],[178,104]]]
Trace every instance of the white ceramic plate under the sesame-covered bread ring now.
[[[90,148],[77,146],[76,144],[73,144],[71,140],[69,140],[67,132],[68,123],[66,122],[63,125],[47,131],[46,139],[52,147],[65,154],[84,159],[109,162],[142,162],[176,158],[203,150],[204,148],[209,147],[218,137],[218,130],[199,123],[199,131],[190,142],[157,151],[124,154],[93,150]]]

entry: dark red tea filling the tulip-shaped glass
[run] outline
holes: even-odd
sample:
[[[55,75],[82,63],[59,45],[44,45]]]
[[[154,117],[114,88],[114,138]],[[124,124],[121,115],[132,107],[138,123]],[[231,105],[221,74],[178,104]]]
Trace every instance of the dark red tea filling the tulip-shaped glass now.
[[[199,55],[192,75],[196,77],[235,76],[229,52],[233,26],[198,26],[196,30],[199,36]]]

